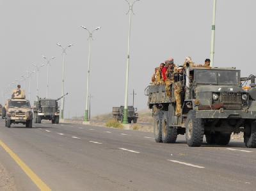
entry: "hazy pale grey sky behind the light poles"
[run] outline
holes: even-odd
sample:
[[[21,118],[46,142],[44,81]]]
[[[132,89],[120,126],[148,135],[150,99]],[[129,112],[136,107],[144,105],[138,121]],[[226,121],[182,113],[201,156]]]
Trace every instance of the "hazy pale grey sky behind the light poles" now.
[[[144,89],[154,67],[168,57],[182,64],[191,56],[203,63],[210,54],[212,0],[141,0],[134,6],[131,34],[129,93],[134,88],[135,104],[147,108]],[[242,75],[255,73],[256,1],[218,0],[216,11],[215,66],[236,66]],[[0,0],[0,88],[4,89],[32,63],[45,63],[42,55],[56,56],[52,61],[49,97],[61,96],[61,49],[67,50],[65,114],[82,116],[86,96],[88,34],[81,25],[102,29],[92,43],[92,114],[111,112],[124,103],[127,57],[128,10],[124,0]],[[40,96],[46,96],[46,67],[40,71]],[[23,83],[21,82],[23,85]],[[28,80],[25,86],[28,94]],[[31,83],[35,99],[36,77]],[[1,93],[3,95],[3,93]],[[3,98],[1,96],[1,102]],[[129,95],[129,103],[132,96]]]

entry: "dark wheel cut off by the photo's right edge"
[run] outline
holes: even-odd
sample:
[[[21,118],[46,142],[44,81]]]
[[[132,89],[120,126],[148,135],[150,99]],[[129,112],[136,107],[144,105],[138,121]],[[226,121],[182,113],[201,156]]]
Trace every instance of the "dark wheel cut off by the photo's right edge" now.
[[[256,148],[256,124],[246,123],[244,126],[244,144],[247,148]]]

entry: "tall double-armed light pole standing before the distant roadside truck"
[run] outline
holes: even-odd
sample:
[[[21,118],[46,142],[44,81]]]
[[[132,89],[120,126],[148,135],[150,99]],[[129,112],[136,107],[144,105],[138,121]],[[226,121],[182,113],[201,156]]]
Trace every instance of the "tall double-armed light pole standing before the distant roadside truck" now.
[[[125,99],[124,99],[124,124],[128,124],[128,84],[129,84],[129,65],[130,65],[130,43],[131,43],[131,22],[132,22],[132,13],[133,6],[137,1],[134,1],[132,4],[129,1],[125,0],[129,5],[129,34],[128,34],[128,53],[127,53],[127,63],[126,63],[126,75],[125,75]]]

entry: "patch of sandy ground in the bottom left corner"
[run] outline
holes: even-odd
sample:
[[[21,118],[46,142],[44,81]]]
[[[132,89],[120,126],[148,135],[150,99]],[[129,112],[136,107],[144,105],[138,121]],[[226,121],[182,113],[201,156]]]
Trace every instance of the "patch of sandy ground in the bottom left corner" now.
[[[0,162],[0,190],[3,191],[16,191],[14,179],[10,174],[4,169],[3,165]]]

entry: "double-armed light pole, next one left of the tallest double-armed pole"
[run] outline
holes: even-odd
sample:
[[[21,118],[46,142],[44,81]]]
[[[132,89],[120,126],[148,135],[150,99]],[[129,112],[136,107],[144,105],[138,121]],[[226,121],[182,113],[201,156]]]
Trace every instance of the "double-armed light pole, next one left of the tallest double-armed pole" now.
[[[86,31],[88,31],[89,33],[89,56],[88,56],[88,72],[87,72],[87,93],[86,93],[86,105],[85,105],[85,112],[84,112],[84,122],[88,122],[88,98],[89,98],[89,80],[90,80],[90,63],[91,63],[91,48],[92,48],[92,34],[99,30],[101,27],[97,27],[96,29],[94,29],[93,31],[89,31],[86,27],[81,26],[83,29],[85,29]]]

